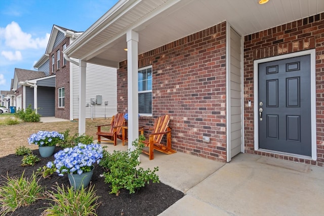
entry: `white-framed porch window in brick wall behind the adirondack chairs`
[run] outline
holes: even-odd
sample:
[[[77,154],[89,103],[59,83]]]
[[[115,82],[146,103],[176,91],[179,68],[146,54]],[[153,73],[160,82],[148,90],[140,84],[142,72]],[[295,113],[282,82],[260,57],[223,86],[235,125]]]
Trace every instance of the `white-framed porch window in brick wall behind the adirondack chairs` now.
[[[138,113],[152,115],[152,66],[138,71]]]

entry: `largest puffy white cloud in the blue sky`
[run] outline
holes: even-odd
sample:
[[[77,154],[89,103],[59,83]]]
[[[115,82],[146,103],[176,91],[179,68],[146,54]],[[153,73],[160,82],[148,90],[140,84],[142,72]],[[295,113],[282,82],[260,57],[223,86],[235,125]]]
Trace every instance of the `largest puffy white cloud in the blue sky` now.
[[[6,46],[16,50],[46,48],[50,38],[49,33],[43,38],[32,38],[31,34],[23,32],[18,23],[14,21],[6,28],[0,28],[0,36],[5,39]]]

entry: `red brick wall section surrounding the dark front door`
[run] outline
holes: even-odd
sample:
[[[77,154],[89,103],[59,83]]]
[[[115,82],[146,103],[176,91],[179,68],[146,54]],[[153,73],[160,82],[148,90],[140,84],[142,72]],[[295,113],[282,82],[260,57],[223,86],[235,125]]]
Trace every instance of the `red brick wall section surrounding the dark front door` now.
[[[253,61],[309,49],[316,52],[317,161],[254,151]],[[324,166],[324,13],[245,36],[244,87],[245,101],[252,101],[244,112],[246,152]]]

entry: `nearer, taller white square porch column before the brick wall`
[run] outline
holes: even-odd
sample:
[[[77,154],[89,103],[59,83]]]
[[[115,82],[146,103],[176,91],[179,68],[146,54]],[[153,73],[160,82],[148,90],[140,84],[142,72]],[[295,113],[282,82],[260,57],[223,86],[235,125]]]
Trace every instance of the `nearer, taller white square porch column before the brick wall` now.
[[[127,32],[128,148],[138,138],[138,32]]]

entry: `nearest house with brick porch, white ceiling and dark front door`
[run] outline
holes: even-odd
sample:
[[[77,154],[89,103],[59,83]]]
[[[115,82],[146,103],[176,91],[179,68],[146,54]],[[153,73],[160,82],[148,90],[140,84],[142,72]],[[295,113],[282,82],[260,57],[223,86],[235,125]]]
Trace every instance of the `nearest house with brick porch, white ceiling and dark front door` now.
[[[118,68],[129,140],[169,114],[179,152],[324,166],[324,3],[297,3],[120,0],[64,53]]]

